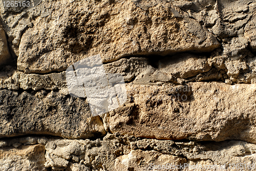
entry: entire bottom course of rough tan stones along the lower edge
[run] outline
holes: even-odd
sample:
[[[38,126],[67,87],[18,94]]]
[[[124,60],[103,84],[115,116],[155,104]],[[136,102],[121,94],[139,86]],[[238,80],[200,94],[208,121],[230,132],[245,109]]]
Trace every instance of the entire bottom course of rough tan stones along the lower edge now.
[[[252,165],[256,160],[256,145],[244,141],[175,142],[108,134],[103,140],[94,141],[24,137],[5,140],[5,143],[7,145],[0,148],[3,170],[159,170],[150,168],[167,163],[216,164],[226,165],[227,170],[239,170],[228,167],[236,163]],[[15,143],[20,145],[12,147]]]

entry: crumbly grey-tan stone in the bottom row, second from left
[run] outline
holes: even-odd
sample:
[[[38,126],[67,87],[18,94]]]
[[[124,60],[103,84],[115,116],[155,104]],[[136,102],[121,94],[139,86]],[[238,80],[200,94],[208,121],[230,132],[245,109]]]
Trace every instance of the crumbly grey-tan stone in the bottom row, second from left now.
[[[111,170],[114,168],[116,156],[122,153],[124,146],[124,144],[115,144],[115,142],[117,143],[118,140],[50,140],[46,144],[45,166],[53,170],[61,168]]]

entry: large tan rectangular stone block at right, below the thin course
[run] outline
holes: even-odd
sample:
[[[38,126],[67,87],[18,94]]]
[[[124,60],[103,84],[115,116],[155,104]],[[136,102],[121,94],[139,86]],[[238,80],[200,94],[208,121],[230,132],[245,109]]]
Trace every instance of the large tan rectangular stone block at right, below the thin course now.
[[[126,90],[133,100],[110,112],[112,133],[157,139],[256,142],[255,84],[130,83]]]

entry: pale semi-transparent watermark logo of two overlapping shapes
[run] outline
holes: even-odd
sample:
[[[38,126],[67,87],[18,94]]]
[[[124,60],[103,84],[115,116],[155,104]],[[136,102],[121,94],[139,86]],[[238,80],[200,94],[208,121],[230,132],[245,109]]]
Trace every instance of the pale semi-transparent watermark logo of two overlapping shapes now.
[[[115,110],[127,99],[123,76],[105,73],[100,55],[71,65],[66,79],[71,96],[87,98],[92,116]]]

